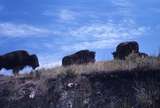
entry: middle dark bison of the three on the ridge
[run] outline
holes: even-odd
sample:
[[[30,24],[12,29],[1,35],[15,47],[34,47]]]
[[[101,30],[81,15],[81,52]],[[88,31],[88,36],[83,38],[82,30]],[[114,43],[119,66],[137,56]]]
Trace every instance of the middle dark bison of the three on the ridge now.
[[[62,59],[63,66],[68,66],[73,64],[84,64],[89,62],[92,63],[95,62],[95,52],[89,50],[81,50],[72,55],[65,56]]]

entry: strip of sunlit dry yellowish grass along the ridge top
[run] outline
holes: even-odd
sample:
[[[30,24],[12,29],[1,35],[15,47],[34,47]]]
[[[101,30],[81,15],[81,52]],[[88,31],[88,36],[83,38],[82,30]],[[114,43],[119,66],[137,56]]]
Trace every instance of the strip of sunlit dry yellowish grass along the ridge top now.
[[[41,77],[56,77],[59,74],[71,72],[74,74],[89,74],[93,72],[114,72],[132,69],[157,69],[160,67],[160,58],[158,57],[139,57],[131,54],[126,60],[99,61],[83,65],[71,65],[68,67],[58,66],[52,69],[40,69]]]

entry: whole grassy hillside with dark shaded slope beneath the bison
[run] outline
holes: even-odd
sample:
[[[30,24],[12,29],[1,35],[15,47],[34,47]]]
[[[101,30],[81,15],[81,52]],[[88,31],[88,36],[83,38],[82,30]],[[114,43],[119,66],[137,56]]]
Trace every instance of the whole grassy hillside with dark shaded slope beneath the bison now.
[[[160,58],[41,69],[0,76],[1,108],[159,108]]]

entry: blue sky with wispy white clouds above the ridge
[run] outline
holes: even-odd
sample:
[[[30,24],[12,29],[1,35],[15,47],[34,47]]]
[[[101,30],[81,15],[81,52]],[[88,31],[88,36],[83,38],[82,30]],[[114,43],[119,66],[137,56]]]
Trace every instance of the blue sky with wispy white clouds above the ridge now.
[[[25,49],[41,66],[60,64],[81,49],[112,59],[118,43],[160,49],[159,0],[0,0],[0,54]]]

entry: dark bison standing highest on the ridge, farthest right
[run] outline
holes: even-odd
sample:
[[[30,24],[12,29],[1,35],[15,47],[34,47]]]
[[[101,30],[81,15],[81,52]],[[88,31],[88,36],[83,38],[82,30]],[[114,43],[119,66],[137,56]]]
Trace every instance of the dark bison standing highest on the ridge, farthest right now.
[[[113,52],[114,59],[124,60],[131,53],[139,53],[139,45],[136,41],[120,43]]]

